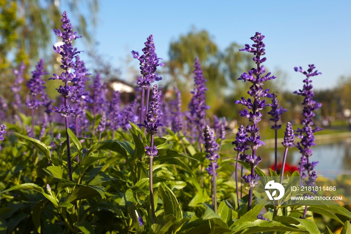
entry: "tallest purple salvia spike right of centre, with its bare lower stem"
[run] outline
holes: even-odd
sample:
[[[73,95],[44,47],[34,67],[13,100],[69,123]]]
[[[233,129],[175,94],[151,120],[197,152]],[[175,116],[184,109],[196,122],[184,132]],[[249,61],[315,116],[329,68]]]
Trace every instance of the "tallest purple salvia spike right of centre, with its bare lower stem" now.
[[[252,47],[248,44],[245,45],[244,49],[241,49],[240,51],[247,51],[249,53],[253,53],[254,55],[254,62],[256,63],[257,67],[256,68],[251,68],[248,73],[244,72],[238,80],[244,80],[244,82],[248,81],[252,83],[250,90],[247,92],[253,99],[247,98],[245,99],[244,97],[241,97],[241,100],[237,100],[235,103],[240,103],[247,108],[244,110],[239,111],[240,116],[245,116],[246,118],[249,119],[251,122],[251,126],[248,125],[246,128],[246,132],[250,133],[250,137],[247,139],[245,145],[250,146],[252,149],[252,155],[249,155],[246,157],[246,161],[250,162],[251,164],[251,174],[250,174],[250,180],[258,180],[256,176],[254,175],[254,167],[257,166],[257,163],[260,160],[260,157],[256,157],[256,150],[264,144],[263,141],[261,141],[261,137],[259,136],[259,129],[257,127],[258,122],[261,121],[262,113],[260,110],[262,110],[266,106],[270,106],[270,104],[266,103],[266,100],[261,100],[263,97],[269,97],[272,98],[273,95],[269,94],[268,91],[269,89],[263,89],[262,85],[263,82],[271,79],[275,79],[275,76],[271,76],[271,73],[268,72],[266,73],[266,70],[264,66],[262,65],[263,62],[265,62],[267,59],[266,57],[261,58],[261,56],[265,55],[265,49],[264,47],[266,46],[263,43],[263,39],[265,36],[263,36],[261,33],[256,32],[255,36],[251,37],[250,39],[254,42]],[[247,180],[247,177],[244,178]],[[253,183],[252,181],[250,182],[251,184]],[[253,186],[250,186],[250,191],[249,191],[249,201],[248,201],[248,210],[251,209],[251,204],[252,204],[252,195],[253,195]]]

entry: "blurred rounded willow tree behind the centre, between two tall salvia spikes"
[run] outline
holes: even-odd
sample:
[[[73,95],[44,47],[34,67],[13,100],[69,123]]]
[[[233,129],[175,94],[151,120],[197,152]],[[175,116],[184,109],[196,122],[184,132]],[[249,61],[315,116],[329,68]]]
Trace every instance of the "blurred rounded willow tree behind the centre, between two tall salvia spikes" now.
[[[221,116],[233,118],[237,111],[233,111],[232,107],[223,107],[229,97],[233,99],[238,90],[243,90],[237,88],[242,87],[242,82],[236,81],[243,71],[251,69],[254,64],[250,56],[239,52],[243,47],[232,43],[224,51],[220,51],[209,32],[198,31],[193,27],[188,34],[181,35],[170,43],[170,61],[165,63],[166,73],[172,82],[181,84],[179,86],[183,93],[189,93],[193,85],[193,65],[198,57],[204,76],[208,80],[207,103],[211,106],[210,115],[220,113]],[[186,99],[183,101],[186,104],[190,93],[183,98]]]

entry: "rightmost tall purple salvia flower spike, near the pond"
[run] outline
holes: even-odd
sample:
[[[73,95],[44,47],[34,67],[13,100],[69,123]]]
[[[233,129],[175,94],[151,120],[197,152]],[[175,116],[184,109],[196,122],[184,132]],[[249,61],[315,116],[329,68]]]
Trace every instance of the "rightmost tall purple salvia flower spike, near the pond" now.
[[[306,76],[306,78],[303,80],[305,83],[303,85],[303,89],[299,89],[299,91],[295,91],[297,95],[301,95],[304,97],[302,105],[303,105],[303,110],[302,110],[302,116],[303,120],[301,121],[301,124],[303,125],[303,128],[300,129],[298,128],[296,132],[296,136],[301,138],[301,141],[298,142],[295,146],[297,149],[299,149],[300,153],[302,154],[301,157],[301,162],[300,162],[300,175],[301,178],[306,178],[307,175],[310,173],[311,170],[313,170],[314,166],[318,162],[310,162],[308,159],[309,157],[312,156],[312,149],[311,147],[315,145],[314,143],[314,136],[313,133],[321,131],[319,127],[315,127],[312,129],[313,126],[313,120],[312,118],[314,117],[314,111],[319,109],[321,106],[321,103],[316,103],[313,100],[314,93],[312,91],[312,80],[309,78],[312,76],[320,75],[321,73],[318,72],[315,69],[315,66],[313,64],[308,65],[308,70],[304,71],[302,67],[295,67],[294,70],[301,72]],[[305,171],[307,170],[307,174]]]

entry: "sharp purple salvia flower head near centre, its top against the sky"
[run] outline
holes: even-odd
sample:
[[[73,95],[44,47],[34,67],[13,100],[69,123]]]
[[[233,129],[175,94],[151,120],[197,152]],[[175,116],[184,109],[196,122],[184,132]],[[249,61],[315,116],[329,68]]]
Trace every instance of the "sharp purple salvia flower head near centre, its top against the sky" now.
[[[148,88],[155,80],[158,81],[162,79],[162,77],[158,76],[155,72],[158,66],[164,65],[164,63],[159,63],[159,60],[162,58],[158,58],[155,53],[155,44],[153,43],[152,35],[147,38],[144,44],[145,47],[142,49],[142,55],[134,50],[131,52],[133,57],[140,62],[140,73],[142,76],[139,77],[137,84],[143,89]]]

